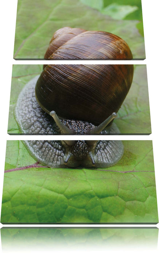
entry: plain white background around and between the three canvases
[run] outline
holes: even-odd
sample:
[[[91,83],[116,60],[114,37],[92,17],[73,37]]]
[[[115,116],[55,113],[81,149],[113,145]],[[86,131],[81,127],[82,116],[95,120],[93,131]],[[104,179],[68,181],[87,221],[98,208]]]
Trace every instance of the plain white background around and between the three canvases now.
[[[34,1],[34,0],[33,0]],[[9,98],[12,76],[12,64],[44,64],[46,61],[15,61],[13,60],[13,48],[15,37],[15,25],[16,25],[16,8],[17,0],[4,0],[0,3],[0,207],[1,196],[3,189],[3,177],[4,177],[4,162],[5,162],[5,148],[7,140],[23,140],[23,139],[41,139],[40,136],[9,136],[7,134],[8,126],[8,112],[9,112]],[[148,76],[148,89],[150,99],[150,112],[151,112],[151,127],[152,134],[149,136],[106,136],[103,139],[120,139],[120,140],[152,140],[154,148],[154,163],[155,163],[155,176],[156,176],[156,189],[159,205],[159,0],[142,0],[143,10],[143,22],[144,22],[144,39],[146,49],[146,60],[144,61],[124,61],[124,64],[147,64],[147,76]],[[79,64],[79,61],[51,61],[51,64]],[[80,61],[80,64],[92,64],[92,61]],[[112,61],[111,64],[123,64],[123,61]],[[93,61],[93,64],[110,64],[110,61]],[[54,136],[54,139],[63,139],[66,136]],[[90,139],[90,136],[88,137]],[[86,137],[80,139],[88,139]],[[96,136],[96,139],[101,139],[101,136]],[[51,137],[43,137],[43,139],[52,139]],[[69,137],[70,139],[70,137]],[[75,139],[73,136],[72,139]],[[93,138],[94,139],[94,136]],[[2,227],[1,225],[0,227]],[[6,225],[5,225],[6,226]],[[24,225],[21,225],[24,226]],[[66,225],[65,225],[66,226]],[[68,225],[69,226],[69,225]],[[72,225],[77,226],[77,225]],[[88,225],[85,225],[88,226]],[[89,225],[93,226],[93,225]],[[104,225],[102,225],[104,226]],[[119,226],[119,225],[118,225]],[[137,226],[137,225],[136,225]],[[139,226],[139,225],[138,225]],[[148,225],[144,225],[148,226]],[[156,225],[159,227],[159,225]],[[61,225],[62,227],[62,225]],[[88,248],[91,251],[91,248]],[[97,249],[98,250],[98,249]],[[159,252],[159,251],[158,251]],[[60,249],[58,254],[60,253]],[[79,254],[78,251],[62,252],[62,254]],[[88,252],[87,252],[88,253]],[[95,255],[97,251],[91,252]],[[113,254],[112,251],[108,252]],[[134,255],[144,254],[149,255],[150,251],[133,251],[132,249],[127,251],[118,251],[115,254]],[[17,255],[16,252],[12,252],[12,255]],[[25,254],[25,252],[23,252]],[[40,253],[38,253],[40,254]],[[80,253],[81,254],[81,253]],[[154,255],[157,255],[157,251],[153,251]],[[42,253],[41,253],[42,255]]]

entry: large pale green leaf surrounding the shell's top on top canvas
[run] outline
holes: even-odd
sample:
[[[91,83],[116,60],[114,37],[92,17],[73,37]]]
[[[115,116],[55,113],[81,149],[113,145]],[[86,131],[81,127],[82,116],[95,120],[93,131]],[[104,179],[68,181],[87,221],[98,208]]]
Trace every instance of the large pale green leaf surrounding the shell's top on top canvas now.
[[[53,33],[70,26],[116,34],[127,42],[134,59],[144,59],[144,38],[137,23],[103,15],[80,0],[18,0],[14,58],[43,59]]]

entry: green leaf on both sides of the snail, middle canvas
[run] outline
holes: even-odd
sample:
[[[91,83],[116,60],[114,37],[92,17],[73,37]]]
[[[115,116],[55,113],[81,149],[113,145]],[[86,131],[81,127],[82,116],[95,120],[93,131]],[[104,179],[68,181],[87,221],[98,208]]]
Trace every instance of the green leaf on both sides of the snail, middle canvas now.
[[[13,65],[8,133],[20,133],[13,110],[25,84],[42,71],[41,65]],[[146,65],[135,65],[131,89],[114,121],[121,133],[150,134],[151,120]]]

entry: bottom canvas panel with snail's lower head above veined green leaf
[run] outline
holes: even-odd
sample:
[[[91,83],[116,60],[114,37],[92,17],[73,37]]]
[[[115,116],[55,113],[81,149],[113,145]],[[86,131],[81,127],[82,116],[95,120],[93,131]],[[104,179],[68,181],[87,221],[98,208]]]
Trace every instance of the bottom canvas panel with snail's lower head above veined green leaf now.
[[[152,141],[7,141],[1,223],[158,223]]]

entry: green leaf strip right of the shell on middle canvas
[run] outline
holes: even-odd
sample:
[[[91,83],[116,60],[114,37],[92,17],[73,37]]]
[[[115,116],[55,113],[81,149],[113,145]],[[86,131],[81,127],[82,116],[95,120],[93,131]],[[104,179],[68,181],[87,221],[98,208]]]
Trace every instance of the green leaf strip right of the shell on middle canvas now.
[[[136,65],[131,89],[115,120],[121,133],[151,133],[146,65]]]

